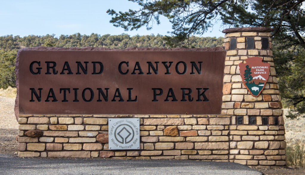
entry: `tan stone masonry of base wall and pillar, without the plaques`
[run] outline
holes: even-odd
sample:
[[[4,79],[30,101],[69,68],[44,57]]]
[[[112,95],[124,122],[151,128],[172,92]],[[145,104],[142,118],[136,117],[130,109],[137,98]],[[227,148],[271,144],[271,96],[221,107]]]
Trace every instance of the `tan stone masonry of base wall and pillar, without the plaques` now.
[[[223,31],[227,57],[220,115],[19,115],[18,155],[195,159],[283,166],[285,129],[270,31]],[[244,87],[238,67],[253,56],[271,65],[270,77],[258,97]],[[108,150],[108,118],[140,118],[140,149]]]

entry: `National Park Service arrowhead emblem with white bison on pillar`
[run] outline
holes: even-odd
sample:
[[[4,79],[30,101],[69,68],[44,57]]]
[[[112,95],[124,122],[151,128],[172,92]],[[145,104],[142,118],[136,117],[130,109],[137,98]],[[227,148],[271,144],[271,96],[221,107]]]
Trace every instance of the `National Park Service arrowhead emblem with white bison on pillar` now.
[[[250,57],[246,63],[239,63],[239,70],[243,84],[251,95],[258,97],[269,78],[270,64],[263,63],[260,57]]]

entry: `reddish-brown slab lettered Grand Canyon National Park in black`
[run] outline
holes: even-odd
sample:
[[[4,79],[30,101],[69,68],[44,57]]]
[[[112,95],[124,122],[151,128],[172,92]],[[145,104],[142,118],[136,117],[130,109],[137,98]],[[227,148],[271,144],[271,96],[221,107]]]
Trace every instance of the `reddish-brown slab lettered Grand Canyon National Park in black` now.
[[[29,48],[16,60],[19,114],[220,114],[225,51]]]

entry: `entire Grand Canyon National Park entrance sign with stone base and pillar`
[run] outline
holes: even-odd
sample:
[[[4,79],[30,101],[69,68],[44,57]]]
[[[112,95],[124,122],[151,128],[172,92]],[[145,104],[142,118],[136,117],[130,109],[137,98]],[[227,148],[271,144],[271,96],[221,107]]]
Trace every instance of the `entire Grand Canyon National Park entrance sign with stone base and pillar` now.
[[[16,58],[18,156],[286,161],[265,27],[213,48],[25,48]]]

